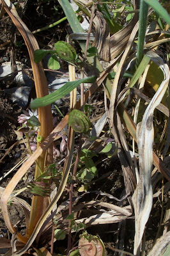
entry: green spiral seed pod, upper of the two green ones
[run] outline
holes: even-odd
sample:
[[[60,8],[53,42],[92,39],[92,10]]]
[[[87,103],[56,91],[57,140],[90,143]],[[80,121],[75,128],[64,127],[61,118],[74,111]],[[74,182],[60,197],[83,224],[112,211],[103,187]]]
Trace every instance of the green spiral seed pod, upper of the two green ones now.
[[[72,45],[67,44],[64,41],[58,41],[56,44],[54,44],[54,47],[56,48],[56,53],[61,59],[66,61],[75,60],[77,53]]]

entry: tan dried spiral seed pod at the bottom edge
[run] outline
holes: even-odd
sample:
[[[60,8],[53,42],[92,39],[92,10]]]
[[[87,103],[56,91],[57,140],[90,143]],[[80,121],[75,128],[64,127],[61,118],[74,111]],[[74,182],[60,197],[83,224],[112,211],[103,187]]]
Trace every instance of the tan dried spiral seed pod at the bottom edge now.
[[[83,234],[79,240],[79,253],[81,256],[104,256],[105,248],[102,240],[97,236]]]

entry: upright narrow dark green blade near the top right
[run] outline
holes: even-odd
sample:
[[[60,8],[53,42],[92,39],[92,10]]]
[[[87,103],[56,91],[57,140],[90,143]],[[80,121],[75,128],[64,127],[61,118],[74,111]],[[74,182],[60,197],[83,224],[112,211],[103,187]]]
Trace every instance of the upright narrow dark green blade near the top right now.
[[[136,67],[139,66],[141,60],[143,59],[143,46],[144,38],[146,33],[148,18],[148,4],[141,0],[140,11],[139,11],[139,34],[138,34],[138,44],[137,44],[137,58],[136,58]]]

